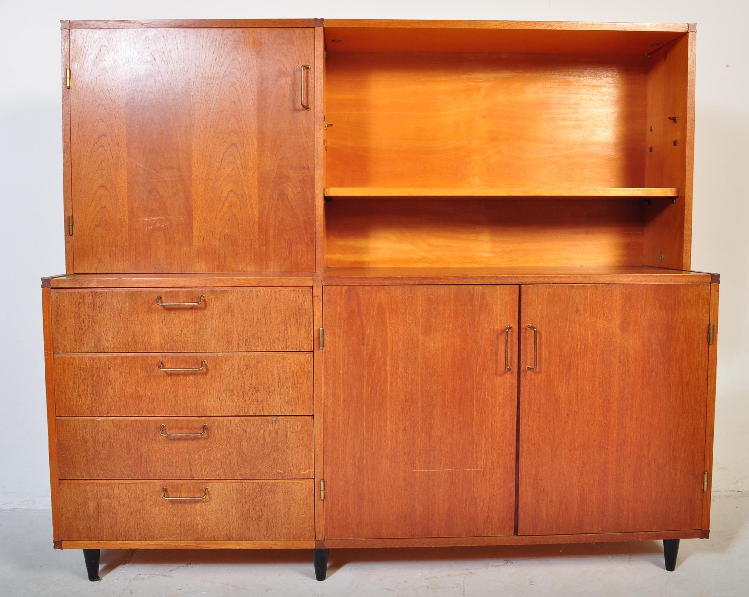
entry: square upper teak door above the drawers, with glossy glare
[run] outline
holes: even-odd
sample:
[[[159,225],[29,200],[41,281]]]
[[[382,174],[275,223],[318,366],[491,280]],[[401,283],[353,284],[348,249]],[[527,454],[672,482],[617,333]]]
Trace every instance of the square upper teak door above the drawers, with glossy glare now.
[[[74,271],[314,271],[313,58],[312,28],[71,29]]]

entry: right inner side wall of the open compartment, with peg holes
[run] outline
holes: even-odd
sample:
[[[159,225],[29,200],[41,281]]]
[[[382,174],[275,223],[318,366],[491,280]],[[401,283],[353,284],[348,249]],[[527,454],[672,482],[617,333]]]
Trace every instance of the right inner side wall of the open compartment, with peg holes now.
[[[652,151],[645,154],[645,184],[678,186],[681,193],[676,203],[646,205],[648,266],[689,269],[691,263],[696,35],[684,34],[649,58],[646,145]]]

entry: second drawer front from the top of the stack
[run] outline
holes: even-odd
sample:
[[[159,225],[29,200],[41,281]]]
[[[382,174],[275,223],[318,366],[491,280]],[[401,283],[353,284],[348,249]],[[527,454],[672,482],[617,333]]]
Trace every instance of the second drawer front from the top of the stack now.
[[[311,353],[105,353],[53,359],[57,416],[312,414]],[[202,361],[201,371],[159,369],[201,368]]]

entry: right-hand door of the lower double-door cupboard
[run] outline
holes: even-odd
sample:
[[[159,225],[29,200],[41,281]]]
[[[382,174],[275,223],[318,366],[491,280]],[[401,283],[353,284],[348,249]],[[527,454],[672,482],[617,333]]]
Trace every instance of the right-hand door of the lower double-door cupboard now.
[[[521,287],[521,535],[700,529],[709,293]]]

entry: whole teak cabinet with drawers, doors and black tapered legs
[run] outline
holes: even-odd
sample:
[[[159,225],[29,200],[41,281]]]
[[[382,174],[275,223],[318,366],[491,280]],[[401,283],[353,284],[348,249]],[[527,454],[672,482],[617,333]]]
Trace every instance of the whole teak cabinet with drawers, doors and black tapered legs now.
[[[55,547],[709,533],[693,25],[64,21]],[[61,226],[62,228],[62,226]]]

